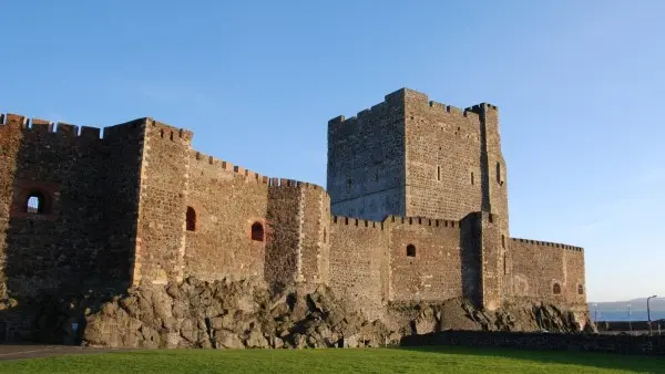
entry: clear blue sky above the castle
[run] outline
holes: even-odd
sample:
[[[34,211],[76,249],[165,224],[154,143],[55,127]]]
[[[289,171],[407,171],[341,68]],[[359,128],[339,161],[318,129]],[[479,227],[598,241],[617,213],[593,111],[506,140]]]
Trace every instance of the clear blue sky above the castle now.
[[[407,86],[501,111],[511,235],[585,248],[590,301],[665,295],[665,1],[0,0],[0,111],[152,116],[326,184],[327,121]]]

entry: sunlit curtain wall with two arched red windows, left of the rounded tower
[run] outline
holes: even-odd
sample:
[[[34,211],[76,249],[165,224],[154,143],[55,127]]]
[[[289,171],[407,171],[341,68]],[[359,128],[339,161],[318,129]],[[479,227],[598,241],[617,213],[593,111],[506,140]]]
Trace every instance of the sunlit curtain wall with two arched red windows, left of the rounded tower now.
[[[204,280],[224,277],[263,277],[268,185],[255,175],[234,173],[219,160],[192,154],[187,207],[195,212],[194,230],[186,231],[185,277]],[[190,217],[191,219],[192,217]],[[264,235],[252,237],[252,226]]]

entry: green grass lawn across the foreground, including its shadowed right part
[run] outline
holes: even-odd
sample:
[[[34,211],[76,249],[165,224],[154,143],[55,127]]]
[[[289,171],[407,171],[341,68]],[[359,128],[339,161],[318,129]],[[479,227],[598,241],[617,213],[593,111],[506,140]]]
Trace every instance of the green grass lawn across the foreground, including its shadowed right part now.
[[[665,357],[475,347],[155,350],[0,362],[2,373],[665,373]]]

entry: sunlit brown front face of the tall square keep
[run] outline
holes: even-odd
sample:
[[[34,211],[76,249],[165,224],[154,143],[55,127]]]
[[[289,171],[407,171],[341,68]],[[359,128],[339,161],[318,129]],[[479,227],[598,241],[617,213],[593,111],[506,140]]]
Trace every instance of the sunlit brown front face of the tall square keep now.
[[[423,94],[406,101],[407,216],[462,219],[481,208],[478,114],[430,105]]]

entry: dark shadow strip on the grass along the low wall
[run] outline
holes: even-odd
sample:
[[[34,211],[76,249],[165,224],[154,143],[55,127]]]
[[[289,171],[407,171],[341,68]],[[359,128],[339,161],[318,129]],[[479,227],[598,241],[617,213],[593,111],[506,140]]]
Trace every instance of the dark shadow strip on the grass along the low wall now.
[[[504,347],[429,345],[396,347],[401,351],[502,357],[542,364],[580,365],[595,368],[624,370],[636,373],[665,373],[664,356],[622,355],[597,352],[531,351]]]

